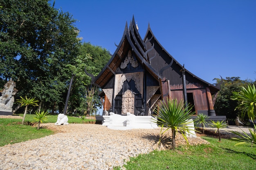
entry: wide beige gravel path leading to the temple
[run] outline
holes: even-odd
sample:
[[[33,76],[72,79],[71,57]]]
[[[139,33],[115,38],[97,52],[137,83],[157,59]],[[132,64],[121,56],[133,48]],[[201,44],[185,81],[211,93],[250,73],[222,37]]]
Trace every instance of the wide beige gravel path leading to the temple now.
[[[0,170],[112,170],[130,157],[149,153],[157,146],[160,128],[111,130],[97,124],[43,124],[56,132],[40,139],[0,147]],[[171,136],[171,130],[167,136]],[[207,144],[200,137],[190,144]],[[177,145],[186,144],[182,135]]]

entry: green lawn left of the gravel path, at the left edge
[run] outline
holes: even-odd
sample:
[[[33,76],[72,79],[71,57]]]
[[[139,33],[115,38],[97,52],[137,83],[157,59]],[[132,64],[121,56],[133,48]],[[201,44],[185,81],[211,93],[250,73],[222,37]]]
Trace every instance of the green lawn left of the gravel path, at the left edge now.
[[[51,135],[49,129],[37,130],[34,126],[20,124],[22,119],[0,119],[0,146]]]

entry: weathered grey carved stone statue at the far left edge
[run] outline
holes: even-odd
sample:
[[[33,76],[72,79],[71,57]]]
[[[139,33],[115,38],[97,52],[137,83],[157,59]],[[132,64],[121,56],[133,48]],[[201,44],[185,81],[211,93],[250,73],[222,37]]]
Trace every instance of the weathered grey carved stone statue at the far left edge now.
[[[14,95],[18,92],[15,88],[16,83],[10,79],[5,85],[4,89],[0,91],[0,111],[12,112],[14,103]]]

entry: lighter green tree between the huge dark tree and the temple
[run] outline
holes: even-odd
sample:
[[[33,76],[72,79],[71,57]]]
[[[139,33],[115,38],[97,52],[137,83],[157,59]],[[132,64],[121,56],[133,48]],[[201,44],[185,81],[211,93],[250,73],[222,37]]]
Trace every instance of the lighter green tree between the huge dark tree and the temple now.
[[[70,95],[71,109],[78,110],[81,114],[92,114],[95,108],[101,106],[97,87],[91,84],[92,78],[85,73],[96,77],[106,65],[110,55],[108,51],[100,46],[94,46],[90,42],[84,42],[76,57],[76,64],[69,65],[70,70],[76,74],[76,78]]]

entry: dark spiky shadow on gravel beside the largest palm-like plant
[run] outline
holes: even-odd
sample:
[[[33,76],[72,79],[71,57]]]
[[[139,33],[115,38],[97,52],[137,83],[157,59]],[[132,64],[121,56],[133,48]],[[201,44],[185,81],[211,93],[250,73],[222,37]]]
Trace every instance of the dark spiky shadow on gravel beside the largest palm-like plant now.
[[[159,147],[164,147],[165,149],[171,149],[172,147],[172,138],[168,135],[162,135],[160,144],[159,144],[159,134],[145,134],[141,136],[142,139],[149,140],[153,143],[153,145],[157,145]]]

